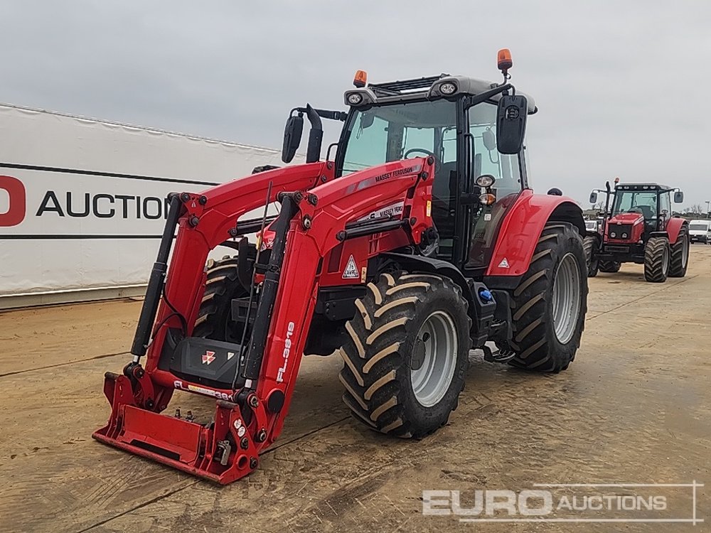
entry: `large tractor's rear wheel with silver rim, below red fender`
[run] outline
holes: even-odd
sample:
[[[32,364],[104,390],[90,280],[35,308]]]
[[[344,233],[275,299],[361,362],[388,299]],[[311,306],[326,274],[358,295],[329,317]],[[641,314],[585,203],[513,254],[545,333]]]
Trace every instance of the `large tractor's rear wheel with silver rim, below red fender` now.
[[[570,224],[546,225],[528,271],[513,291],[515,356],[509,364],[560,372],[575,357],[585,327],[587,269],[583,241]]]

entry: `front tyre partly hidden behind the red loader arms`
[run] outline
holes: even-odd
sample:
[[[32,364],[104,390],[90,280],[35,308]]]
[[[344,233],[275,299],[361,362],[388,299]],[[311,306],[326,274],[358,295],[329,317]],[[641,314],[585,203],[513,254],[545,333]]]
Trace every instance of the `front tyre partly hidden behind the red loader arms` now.
[[[232,299],[249,296],[237,277],[237,257],[210,259],[206,266],[205,294],[200,303],[194,337],[240,343],[243,326],[232,321]]]

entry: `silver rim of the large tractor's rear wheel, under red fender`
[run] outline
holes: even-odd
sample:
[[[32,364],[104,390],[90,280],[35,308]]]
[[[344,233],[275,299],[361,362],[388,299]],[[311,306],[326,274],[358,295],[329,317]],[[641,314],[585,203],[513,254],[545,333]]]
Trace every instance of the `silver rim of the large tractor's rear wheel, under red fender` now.
[[[577,328],[580,316],[580,271],[573,254],[560,260],[553,278],[553,333],[558,342],[566,344]]]

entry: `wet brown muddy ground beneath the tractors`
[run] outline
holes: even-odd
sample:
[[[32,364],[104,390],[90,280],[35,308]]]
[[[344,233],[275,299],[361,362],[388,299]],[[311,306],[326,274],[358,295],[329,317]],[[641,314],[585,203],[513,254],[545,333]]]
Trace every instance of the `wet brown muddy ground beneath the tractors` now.
[[[559,375],[471,352],[459,409],[423,441],[363,429],[341,403],[341,360],[306,357],[284,434],[255,473],[228,487],[90,438],[109,414],[103,373],[129,359],[140,305],[0,314],[0,531],[646,532],[711,522],[711,247],[692,247],[684,279],[648,284],[636,265],[591,279],[582,347]],[[169,411],[207,416],[213,405],[183,396]],[[693,481],[707,483],[695,489],[696,517],[706,519],[695,527],[469,523],[422,512],[423,490],[459,490],[469,507],[475,490],[518,493],[534,483]],[[655,490],[675,518],[692,517],[690,488]],[[555,511],[562,515],[571,516]]]

